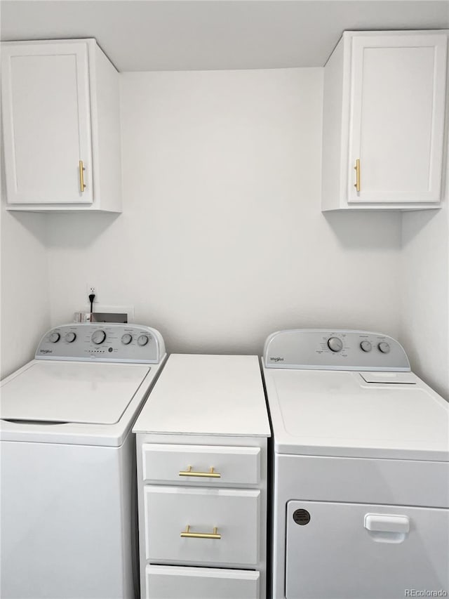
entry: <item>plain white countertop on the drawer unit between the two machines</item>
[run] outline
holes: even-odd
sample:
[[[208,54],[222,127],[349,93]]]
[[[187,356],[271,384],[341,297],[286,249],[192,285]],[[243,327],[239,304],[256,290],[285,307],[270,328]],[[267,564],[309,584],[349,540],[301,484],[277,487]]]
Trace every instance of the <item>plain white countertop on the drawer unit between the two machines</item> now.
[[[133,431],[269,437],[257,356],[170,355]]]

